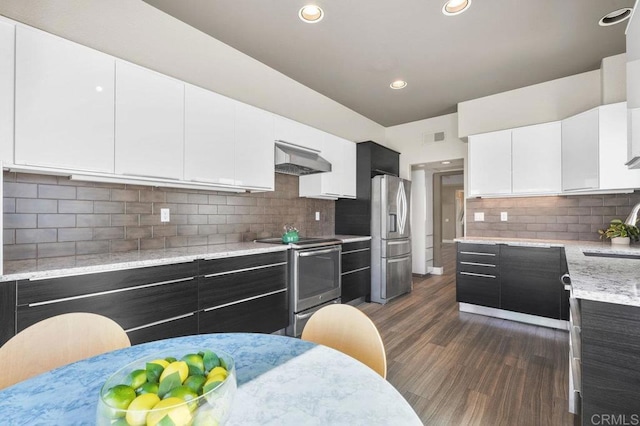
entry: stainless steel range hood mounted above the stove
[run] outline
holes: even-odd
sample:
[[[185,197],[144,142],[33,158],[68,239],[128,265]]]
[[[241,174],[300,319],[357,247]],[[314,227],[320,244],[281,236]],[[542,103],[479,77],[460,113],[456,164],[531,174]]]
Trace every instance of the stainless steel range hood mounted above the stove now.
[[[275,151],[276,173],[304,176],[331,171],[331,163],[315,149],[277,140]]]

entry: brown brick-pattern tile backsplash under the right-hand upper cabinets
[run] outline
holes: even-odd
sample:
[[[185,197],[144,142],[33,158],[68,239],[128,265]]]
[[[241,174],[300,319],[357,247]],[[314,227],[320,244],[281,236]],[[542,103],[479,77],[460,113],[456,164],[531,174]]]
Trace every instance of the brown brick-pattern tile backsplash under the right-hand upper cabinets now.
[[[467,199],[467,236],[597,241],[598,229],[626,219],[640,192],[523,198]],[[484,222],[474,213],[484,212]],[[508,221],[500,221],[507,212]]]

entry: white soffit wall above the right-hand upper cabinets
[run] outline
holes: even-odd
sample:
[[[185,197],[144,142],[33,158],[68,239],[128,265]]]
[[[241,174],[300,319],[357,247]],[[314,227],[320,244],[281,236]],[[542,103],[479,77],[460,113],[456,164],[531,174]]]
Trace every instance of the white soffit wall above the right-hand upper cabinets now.
[[[600,70],[458,104],[458,137],[557,121],[600,105]]]

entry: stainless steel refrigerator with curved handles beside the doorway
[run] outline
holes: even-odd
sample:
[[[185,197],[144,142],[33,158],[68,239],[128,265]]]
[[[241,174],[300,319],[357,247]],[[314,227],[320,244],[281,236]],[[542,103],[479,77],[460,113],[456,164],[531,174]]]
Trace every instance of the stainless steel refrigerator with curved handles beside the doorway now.
[[[411,182],[375,176],[371,182],[371,301],[387,303],[413,288]]]

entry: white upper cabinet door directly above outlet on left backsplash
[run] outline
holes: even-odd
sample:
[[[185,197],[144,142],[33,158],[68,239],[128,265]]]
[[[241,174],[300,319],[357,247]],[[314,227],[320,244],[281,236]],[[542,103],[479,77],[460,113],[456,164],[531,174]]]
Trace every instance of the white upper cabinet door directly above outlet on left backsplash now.
[[[118,174],[183,178],[184,83],[116,61]]]

